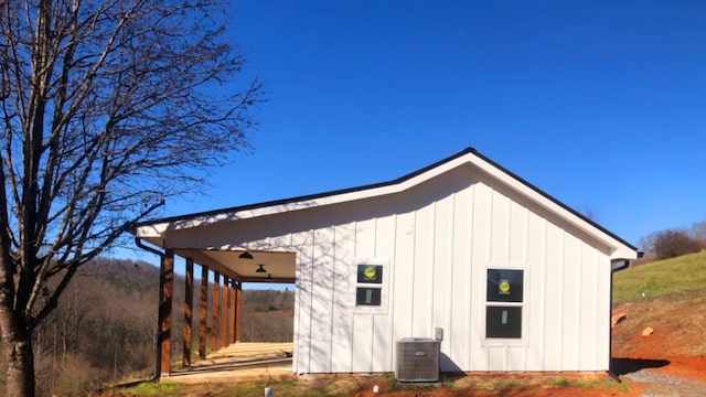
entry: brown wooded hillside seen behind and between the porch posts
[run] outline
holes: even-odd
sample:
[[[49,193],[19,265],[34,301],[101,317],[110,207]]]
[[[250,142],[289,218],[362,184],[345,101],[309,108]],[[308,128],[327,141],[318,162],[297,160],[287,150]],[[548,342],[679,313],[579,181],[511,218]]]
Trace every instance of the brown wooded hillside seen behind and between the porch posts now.
[[[181,357],[184,279],[178,276],[174,281],[171,353]],[[84,396],[108,384],[151,376],[158,286],[159,269],[148,262],[98,258],[83,267],[34,334],[36,395]],[[199,289],[200,281],[194,286]],[[291,341],[293,304],[289,289],[243,291],[240,340]],[[194,304],[194,348],[199,319]],[[0,386],[3,383],[0,377]]]

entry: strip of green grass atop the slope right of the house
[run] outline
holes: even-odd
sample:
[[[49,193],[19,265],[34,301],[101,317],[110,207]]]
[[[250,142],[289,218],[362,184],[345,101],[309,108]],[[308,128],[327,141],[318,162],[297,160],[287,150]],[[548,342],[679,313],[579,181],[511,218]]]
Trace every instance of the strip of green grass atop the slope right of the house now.
[[[704,289],[706,251],[684,255],[618,271],[613,275],[613,303],[657,298]]]

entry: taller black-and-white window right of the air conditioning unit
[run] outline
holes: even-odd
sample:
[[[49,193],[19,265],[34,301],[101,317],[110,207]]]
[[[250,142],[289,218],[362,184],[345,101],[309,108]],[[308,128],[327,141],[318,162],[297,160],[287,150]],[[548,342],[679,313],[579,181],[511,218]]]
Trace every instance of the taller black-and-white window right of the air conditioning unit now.
[[[488,269],[485,337],[522,337],[524,270]]]

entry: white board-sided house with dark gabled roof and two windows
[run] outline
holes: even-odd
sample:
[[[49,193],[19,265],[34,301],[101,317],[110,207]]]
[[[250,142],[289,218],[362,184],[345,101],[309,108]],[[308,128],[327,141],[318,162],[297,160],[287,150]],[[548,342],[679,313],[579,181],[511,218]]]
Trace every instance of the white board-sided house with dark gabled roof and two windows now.
[[[236,287],[295,282],[299,374],[392,372],[396,341],[436,329],[441,371],[608,371],[611,264],[637,258],[473,149],[391,182],[135,233]]]

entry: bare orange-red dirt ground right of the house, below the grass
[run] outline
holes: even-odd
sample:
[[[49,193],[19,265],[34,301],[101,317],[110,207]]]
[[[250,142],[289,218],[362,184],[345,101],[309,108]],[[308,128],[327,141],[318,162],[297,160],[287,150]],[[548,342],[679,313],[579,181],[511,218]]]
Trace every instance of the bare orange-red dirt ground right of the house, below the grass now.
[[[706,396],[706,291],[617,304],[613,371],[634,386],[628,396]],[[643,336],[645,329],[652,329]],[[641,390],[640,390],[641,389]]]

